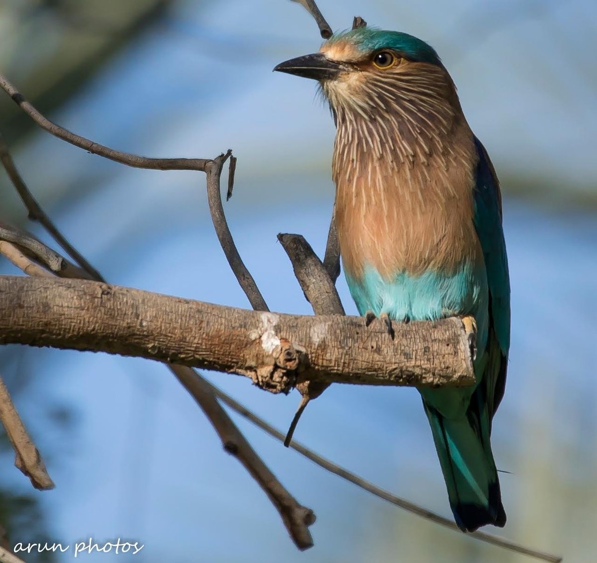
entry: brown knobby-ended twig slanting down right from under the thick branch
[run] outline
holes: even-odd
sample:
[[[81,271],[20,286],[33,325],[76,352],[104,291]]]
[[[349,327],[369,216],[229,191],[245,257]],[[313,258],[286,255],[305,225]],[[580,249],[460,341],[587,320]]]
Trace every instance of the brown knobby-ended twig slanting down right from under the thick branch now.
[[[172,365],[171,370],[207,415],[220,436],[224,450],[235,456],[245,466],[245,469],[272,501],[298,549],[311,547],[313,539],[309,533],[309,526],[315,522],[313,511],[298,504],[257,456],[251,445],[230,420],[226,411],[214,398],[210,383],[199,377],[190,368]]]

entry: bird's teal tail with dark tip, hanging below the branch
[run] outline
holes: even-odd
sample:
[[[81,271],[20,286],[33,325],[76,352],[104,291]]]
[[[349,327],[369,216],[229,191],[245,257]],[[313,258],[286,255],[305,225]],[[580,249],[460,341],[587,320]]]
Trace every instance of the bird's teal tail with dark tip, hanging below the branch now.
[[[471,402],[475,402],[474,395]],[[489,423],[482,424],[472,405],[461,417],[451,419],[424,400],[423,405],[458,528],[472,532],[485,524],[503,527],[506,512],[491,453]]]

